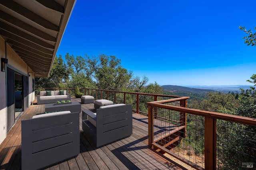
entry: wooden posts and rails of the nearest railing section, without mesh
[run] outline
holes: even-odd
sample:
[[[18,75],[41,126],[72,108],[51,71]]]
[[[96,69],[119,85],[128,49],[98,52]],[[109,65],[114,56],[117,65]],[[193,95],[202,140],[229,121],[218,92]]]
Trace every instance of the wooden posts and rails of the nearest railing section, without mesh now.
[[[243,125],[250,125],[250,126],[256,126],[256,119],[249,118],[249,117],[242,117],[237,115],[230,115],[230,114],[224,114],[224,113],[216,113],[216,112],[210,112],[210,111],[203,111],[198,109],[190,109],[186,108],[186,104],[181,106],[172,106],[167,105],[167,102],[174,102],[174,101],[180,101],[181,103],[184,103],[183,98],[175,98],[173,100],[162,100],[157,102],[148,102],[148,145],[149,147],[153,149],[160,149],[163,152],[168,152],[164,147],[161,147],[157,145],[157,143],[154,142],[154,112],[158,108],[163,108],[167,110],[173,110],[178,111],[180,114],[185,114],[184,117],[187,117],[186,114],[190,113],[193,115],[199,115],[204,117],[204,168],[200,168],[196,166],[195,164],[191,164],[191,162],[186,161],[182,158],[179,158],[175,154],[172,154],[171,152],[168,152],[168,154],[171,154],[172,156],[180,159],[182,162],[185,162],[186,164],[189,164],[193,168],[196,169],[206,169],[206,170],[214,170],[216,169],[216,120],[224,120],[234,123],[241,123]],[[186,122],[186,121],[183,121]],[[255,132],[253,132],[255,133]]]

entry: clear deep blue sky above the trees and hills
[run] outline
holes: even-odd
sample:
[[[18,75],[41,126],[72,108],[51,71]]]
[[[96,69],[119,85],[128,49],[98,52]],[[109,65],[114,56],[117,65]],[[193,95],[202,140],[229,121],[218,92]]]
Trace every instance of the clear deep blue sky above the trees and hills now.
[[[246,85],[256,47],[256,1],[77,0],[57,55],[115,55],[160,85]]]

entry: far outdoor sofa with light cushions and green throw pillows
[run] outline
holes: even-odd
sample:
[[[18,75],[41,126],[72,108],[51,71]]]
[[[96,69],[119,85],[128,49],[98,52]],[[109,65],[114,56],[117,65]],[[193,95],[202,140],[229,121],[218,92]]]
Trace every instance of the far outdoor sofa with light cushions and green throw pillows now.
[[[62,100],[71,100],[71,95],[64,90],[64,94],[60,94],[61,90],[50,91],[51,95],[47,95],[46,91],[40,91],[37,95],[37,104],[56,103]]]

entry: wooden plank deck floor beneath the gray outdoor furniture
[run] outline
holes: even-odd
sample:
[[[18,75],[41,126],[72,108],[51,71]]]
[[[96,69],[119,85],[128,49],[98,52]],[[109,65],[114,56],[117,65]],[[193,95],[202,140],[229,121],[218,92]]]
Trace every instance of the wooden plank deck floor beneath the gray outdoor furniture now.
[[[80,102],[80,99],[72,98]],[[82,104],[93,110],[93,104]],[[21,120],[44,112],[44,105],[27,109],[0,145],[0,170],[21,169]],[[137,170],[186,169],[148,147],[147,117],[133,113],[133,134],[130,137],[95,148],[84,137],[80,113],[80,154],[46,169],[48,170]]]

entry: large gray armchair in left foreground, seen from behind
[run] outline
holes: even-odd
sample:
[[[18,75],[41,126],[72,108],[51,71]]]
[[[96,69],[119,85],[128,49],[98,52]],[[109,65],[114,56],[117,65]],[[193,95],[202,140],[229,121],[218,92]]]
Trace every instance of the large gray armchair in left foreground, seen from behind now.
[[[60,111],[22,120],[22,170],[41,169],[78,155],[79,114]]]

